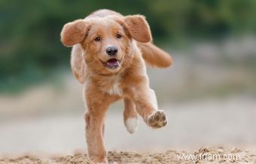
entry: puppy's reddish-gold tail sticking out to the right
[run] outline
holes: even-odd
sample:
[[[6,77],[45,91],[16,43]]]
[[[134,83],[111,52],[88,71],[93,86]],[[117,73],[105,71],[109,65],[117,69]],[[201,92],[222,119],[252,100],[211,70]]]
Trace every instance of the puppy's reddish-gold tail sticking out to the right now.
[[[142,51],[142,57],[151,67],[169,67],[172,65],[172,57],[167,52],[155,46],[153,43],[138,43]]]

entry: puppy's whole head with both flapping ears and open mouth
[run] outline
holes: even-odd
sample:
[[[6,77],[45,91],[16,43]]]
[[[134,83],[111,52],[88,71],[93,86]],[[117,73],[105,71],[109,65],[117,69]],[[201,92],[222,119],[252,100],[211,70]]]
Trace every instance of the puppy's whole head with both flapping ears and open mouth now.
[[[133,40],[151,41],[151,31],[144,16],[105,16],[78,19],[62,28],[65,46],[80,43],[88,68],[96,73],[117,73],[133,55]]]

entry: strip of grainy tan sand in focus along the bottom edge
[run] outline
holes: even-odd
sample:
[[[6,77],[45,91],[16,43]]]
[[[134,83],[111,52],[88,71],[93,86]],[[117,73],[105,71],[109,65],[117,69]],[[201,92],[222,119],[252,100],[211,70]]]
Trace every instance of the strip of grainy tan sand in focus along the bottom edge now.
[[[178,155],[192,154],[197,155],[197,160],[180,160]],[[203,154],[200,156],[200,154]],[[215,156],[218,154],[219,156]],[[224,154],[233,154],[228,159],[224,159]],[[72,156],[50,157],[48,159],[23,156],[15,159],[5,158],[0,160],[4,163],[69,163],[69,164],[90,164],[87,154],[74,154]],[[185,151],[164,151],[161,153],[136,153],[127,151],[109,151],[108,163],[256,163],[256,154],[243,151],[238,148],[226,150],[224,148],[200,148],[197,152]]]

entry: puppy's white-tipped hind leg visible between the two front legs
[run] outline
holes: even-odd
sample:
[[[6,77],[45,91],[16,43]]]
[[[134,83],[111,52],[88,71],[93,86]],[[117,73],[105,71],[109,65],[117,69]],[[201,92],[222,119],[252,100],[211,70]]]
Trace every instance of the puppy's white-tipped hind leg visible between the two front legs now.
[[[129,133],[134,133],[138,127],[136,106],[128,97],[124,98],[123,122]]]

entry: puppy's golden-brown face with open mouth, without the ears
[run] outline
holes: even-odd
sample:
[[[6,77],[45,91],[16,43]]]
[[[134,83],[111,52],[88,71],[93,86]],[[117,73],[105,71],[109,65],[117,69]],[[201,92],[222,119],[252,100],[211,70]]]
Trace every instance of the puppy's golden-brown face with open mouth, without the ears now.
[[[131,38],[114,19],[93,19],[84,38],[85,61],[100,73],[117,72],[130,54],[130,44]]]

